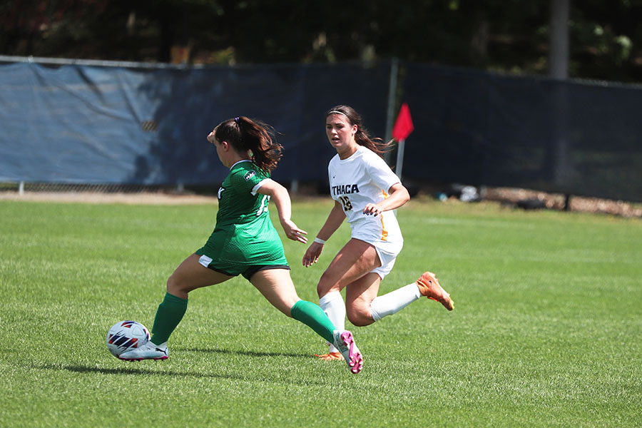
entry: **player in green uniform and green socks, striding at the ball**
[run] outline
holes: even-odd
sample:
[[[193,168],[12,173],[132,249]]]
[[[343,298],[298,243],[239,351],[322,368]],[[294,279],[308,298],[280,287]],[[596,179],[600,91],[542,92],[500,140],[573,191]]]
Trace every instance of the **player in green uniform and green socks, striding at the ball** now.
[[[351,372],[360,372],[363,357],[352,333],[337,330],[318,305],[298,297],[292,283],[283,245],[267,210],[270,199],[287,238],[306,243],[307,233],[290,220],[287,190],[270,178],[281,157],[272,128],[241,116],[216,126],[208,141],[216,147],[221,163],[230,168],[218,190],[214,231],[203,248],[180,263],[169,277],[151,340],[119,358],[165,360],[168,339],[187,309],[188,293],[243,275],[274,307],[341,350]]]

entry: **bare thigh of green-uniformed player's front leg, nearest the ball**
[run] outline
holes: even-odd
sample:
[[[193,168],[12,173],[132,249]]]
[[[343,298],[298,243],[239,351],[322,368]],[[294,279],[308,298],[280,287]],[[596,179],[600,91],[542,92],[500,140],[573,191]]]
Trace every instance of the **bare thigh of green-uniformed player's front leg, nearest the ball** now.
[[[216,272],[208,267],[198,263],[200,258],[197,254],[192,254],[183,263],[180,263],[174,270],[173,274],[167,280],[167,290],[173,295],[188,293],[200,287],[218,284],[231,278],[221,272]]]

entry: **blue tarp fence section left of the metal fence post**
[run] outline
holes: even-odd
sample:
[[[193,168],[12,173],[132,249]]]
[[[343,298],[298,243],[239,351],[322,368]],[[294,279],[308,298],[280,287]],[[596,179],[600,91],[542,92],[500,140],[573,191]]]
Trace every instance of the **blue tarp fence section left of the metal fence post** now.
[[[388,81],[386,64],[0,65],[0,181],[220,183],[228,171],[205,138],[235,116],[281,134],[275,178],[327,179],[325,111],[350,100],[381,135]]]

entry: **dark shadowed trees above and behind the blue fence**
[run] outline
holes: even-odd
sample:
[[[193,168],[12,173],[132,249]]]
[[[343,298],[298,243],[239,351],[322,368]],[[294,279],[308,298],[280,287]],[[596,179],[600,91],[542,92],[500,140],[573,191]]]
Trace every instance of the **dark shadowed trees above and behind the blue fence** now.
[[[0,54],[546,75],[551,0],[0,0]],[[569,76],[642,81],[642,0],[571,1]]]

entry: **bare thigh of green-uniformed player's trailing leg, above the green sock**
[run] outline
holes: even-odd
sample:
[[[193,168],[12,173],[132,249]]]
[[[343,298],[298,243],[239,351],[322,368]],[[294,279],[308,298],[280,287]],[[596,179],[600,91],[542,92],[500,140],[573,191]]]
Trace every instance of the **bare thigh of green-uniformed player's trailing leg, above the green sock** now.
[[[300,298],[290,277],[290,270],[282,268],[259,270],[250,277],[250,282],[272,306],[288,317],[292,316],[292,306]]]

